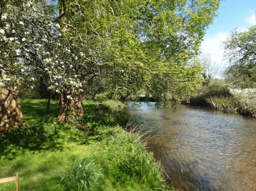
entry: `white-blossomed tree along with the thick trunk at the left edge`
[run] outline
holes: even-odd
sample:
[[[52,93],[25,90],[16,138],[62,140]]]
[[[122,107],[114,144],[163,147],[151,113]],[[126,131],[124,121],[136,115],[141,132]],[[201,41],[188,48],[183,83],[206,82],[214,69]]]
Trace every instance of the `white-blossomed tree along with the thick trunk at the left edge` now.
[[[24,124],[17,86],[29,82],[34,88],[38,75],[49,89],[81,86],[71,67],[79,53],[60,44],[59,25],[53,24],[54,6],[45,1],[8,0],[0,4],[0,130]],[[67,95],[67,99],[72,97]]]

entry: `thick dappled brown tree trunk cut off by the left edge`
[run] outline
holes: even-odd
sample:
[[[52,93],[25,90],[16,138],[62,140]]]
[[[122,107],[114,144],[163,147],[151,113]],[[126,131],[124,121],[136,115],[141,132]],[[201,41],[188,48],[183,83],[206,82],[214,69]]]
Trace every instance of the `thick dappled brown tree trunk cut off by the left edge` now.
[[[19,100],[18,90],[8,90],[0,86],[0,131],[8,132],[11,127],[19,127],[26,124]]]

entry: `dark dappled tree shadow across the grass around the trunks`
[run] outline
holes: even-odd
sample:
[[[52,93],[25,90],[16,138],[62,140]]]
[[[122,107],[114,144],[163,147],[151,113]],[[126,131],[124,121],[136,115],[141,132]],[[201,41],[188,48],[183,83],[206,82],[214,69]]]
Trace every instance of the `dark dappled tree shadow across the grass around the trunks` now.
[[[95,105],[87,101],[84,104],[84,117],[74,123],[58,123],[58,102],[51,102],[51,113],[46,113],[45,100],[22,100],[24,119],[30,127],[12,128],[8,133],[0,133],[0,159],[15,159],[26,152],[43,150],[62,150],[66,143],[89,144],[90,140],[101,141],[111,134],[111,129],[124,126],[130,116],[111,110],[104,104]]]

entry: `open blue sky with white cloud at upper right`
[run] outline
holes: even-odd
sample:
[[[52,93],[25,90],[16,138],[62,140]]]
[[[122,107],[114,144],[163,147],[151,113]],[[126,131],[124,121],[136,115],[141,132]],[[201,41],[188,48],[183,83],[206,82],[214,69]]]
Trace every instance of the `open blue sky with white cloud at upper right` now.
[[[236,27],[244,31],[246,28],[256,25],[255,10],[256,0],[224,0],[220,3],[218,17],[206,31],[201,46],[202,52],[210,54],[218,64],[219,72],[215,78],[222,78],[221,71],[229,66],[227,61],[223,60],[221,42],[225,41]]]

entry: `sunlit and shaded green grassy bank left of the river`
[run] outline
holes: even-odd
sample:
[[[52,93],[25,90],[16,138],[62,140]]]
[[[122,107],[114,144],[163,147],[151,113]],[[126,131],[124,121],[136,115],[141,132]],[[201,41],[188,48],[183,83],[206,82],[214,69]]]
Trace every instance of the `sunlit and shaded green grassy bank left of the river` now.
[[[21,105],[31,127],[0,134],[0,178],[19,172],[21,191],[173,189],[163,185],[160,166],[136,135],[123,130],[130,117],[113,110],[121,103],[84,101],[84,117],[73,124],[57,122],[57,101],[50,115],[45,100]],[[15,183],[0,190],[15,190]]]

